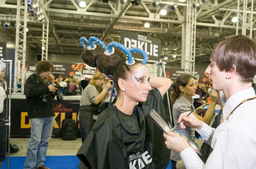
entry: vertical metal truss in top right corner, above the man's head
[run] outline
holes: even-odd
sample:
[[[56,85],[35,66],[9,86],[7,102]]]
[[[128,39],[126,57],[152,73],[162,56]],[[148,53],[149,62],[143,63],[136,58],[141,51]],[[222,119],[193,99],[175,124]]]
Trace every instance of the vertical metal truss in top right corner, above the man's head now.
[[[242,35],[252,38],[253,35],[253,1],[254,0],[238,0],[236,22],[236,35],[241,30]]]

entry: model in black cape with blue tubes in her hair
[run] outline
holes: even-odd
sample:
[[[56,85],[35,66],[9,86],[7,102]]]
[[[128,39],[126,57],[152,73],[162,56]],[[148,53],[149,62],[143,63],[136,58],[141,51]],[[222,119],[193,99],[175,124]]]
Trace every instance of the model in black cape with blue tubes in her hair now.
[[[88,57],[113,80],[118,98],[99,115],[77,156],[89,169],[166,168],[170,151],[162,130],[148,113],[154,108],[165,116],[162,97],[171,86],[171,79],[150,77],[145,67],[148,56],[141,49],[127,49],[117,42],[107,48],[95,37],[89,40],[82,57],[87,63],[87,50],[93,53],[97,48],[92,40],[102,46],[104,52],[95,51],[95,60],[92,54]],[[143,62],[134,60],[131,52],[143,54]],[[79,167],[82,168],[81,163]]]

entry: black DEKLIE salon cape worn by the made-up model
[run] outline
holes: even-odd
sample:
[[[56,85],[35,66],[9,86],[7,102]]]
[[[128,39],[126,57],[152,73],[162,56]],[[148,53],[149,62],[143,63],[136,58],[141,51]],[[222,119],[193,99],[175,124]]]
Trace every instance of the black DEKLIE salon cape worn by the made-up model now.
[[[170,161],[170,150],[166,148],[163,130],[148,115],[152,109],[156,110],[168,123],[163,99],[157,89],[151,90],[147,101],[140,102],[134,108],[140,123],[141,139],[140,141],[136,139],[138,135],[131,135],[129,139],[131,142],[135,142],[133,144],[136,145],[135,147],[142,145],[142,151],[134,149],[134,146],[124,145],[122,138],[124,129],[116,108],[111,106],[99,115],[93,129],[77,153],[78,158],[89,169],[166,169]],[[131,154],[132,152],[134,154]],[[143,152],[146,154],[142,159],[141,153]],[[145,156],[146,161],[151,158],[152,161],[146,164]],[[129,162],[131,159],[132,163]],[[135,163],[134,168],[133,164]],[[84,168],[80,166],[80,169]]]

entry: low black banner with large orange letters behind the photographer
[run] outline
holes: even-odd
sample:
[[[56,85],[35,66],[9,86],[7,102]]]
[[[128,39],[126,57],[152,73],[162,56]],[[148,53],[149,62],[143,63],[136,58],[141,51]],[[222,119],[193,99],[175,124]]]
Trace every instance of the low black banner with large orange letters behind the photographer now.
[[[26,109],[26,99],[12,99],[11,136],[30,136],[30,119]],[[76,121],[79,112],[79,100],[54,100],[55,120],[52,135],[61,130],[61,122],[66,118]]]

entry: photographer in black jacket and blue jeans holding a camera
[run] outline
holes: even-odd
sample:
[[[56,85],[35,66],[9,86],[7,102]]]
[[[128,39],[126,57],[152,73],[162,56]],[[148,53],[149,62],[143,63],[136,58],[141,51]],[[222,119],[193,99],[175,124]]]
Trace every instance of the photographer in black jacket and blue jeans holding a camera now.
[[[25,84],[28,116],[31,119],[30,139],[24,169],[49,169],[44,166],[48,141],[52,136],[54,109],[53,99],[58,90],[47,76],[53,65],[44,60],[36,64],[36,73]]]

